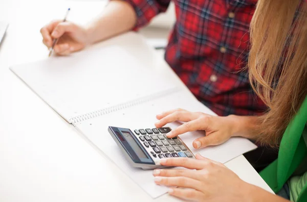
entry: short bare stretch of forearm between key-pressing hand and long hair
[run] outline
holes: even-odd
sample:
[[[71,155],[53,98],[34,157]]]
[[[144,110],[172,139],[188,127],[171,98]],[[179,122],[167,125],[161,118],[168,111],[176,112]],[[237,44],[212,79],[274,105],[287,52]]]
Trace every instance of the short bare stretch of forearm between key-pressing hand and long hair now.
[[[228,118],[231,119],[233,124],[233,137],[245,137],[248,139],[256,140],[259,134],[259,127],[261,122],[264,120],[262,116],[237,116],[229,115]]]

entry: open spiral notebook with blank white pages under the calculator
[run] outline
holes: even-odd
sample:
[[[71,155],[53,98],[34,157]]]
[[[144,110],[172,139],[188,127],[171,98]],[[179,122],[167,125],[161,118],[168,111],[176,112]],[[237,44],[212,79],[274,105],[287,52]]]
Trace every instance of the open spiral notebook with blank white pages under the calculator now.
[[[130,32],[68,57],[51,57],[10,68],[69,124],[99,148],[151,197],[167,188],[152,170],[131,167],[107,127],[153,128],[156,114],[174,108],[215,115],[201,104],[140,35]],[[179,122],[168,124],[176,128]],[[243,138],[196,150],[201,131],[180,137],[195,154],[225,163],[256,146]]]

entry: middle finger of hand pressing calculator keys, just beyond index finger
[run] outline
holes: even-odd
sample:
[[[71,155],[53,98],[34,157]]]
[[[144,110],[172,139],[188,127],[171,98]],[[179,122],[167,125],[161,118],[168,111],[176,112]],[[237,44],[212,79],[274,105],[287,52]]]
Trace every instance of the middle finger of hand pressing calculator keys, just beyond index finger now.
[[[175,111],[163,118],[161,118],[158,122],[155,123],[157,128],[161,128],[167,123],[174,122],[174,121],[190,121],[193,119],[196,119],[198,116],[196,116],[192,112],[187,111]]]

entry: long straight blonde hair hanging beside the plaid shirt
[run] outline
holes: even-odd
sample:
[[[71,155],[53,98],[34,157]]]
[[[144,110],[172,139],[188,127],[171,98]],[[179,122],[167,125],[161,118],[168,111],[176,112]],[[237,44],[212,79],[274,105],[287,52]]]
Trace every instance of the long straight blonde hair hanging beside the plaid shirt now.
[[[307,20],[300,0],[259,0],[250,28],[250,83],[268,105],[258,140],[276,146],[307,95]]]

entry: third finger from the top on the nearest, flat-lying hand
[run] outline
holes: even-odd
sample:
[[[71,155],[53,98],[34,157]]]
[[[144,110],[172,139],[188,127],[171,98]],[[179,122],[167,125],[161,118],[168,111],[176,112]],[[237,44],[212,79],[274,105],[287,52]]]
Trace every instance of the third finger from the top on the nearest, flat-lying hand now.
[[[183,176],[176,176],[176,177],[156,176],[155,183],[158,185],[193,188],[196,190],[201,190],[203,187],[202,186],[203,184],[200,181],[191,178],[186,178]]]

